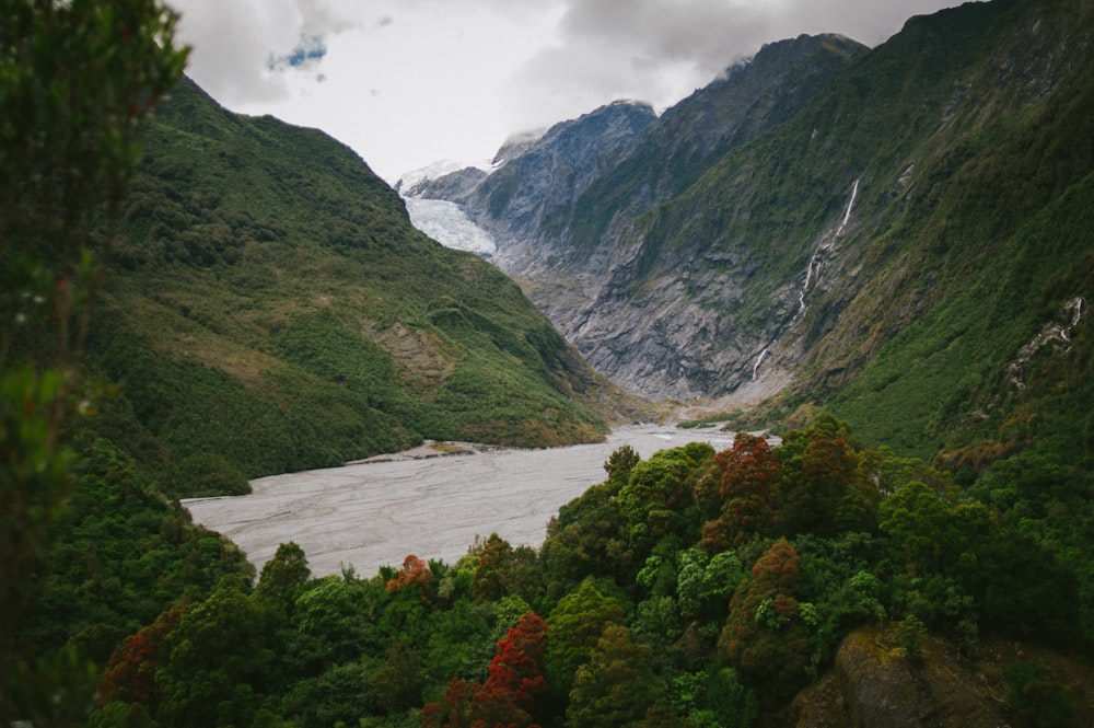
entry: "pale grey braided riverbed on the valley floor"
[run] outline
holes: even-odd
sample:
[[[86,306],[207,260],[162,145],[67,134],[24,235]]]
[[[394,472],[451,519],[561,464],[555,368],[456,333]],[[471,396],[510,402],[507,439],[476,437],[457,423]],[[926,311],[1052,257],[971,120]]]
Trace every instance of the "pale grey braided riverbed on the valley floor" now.
[[[450,564],[475,536],[497,532],[538,548],[560,506],[606,477],[604,462],[622,444],[643,459],[688,442],[733,444],[717,428],[635,425],[598,444],[547,450],[487,450],[393,459],[252,481],[246,496],[184,500],[194,520],[223,533],[256,567],[294,541],[312,574],[352,567],[369,577],[407,554]]]

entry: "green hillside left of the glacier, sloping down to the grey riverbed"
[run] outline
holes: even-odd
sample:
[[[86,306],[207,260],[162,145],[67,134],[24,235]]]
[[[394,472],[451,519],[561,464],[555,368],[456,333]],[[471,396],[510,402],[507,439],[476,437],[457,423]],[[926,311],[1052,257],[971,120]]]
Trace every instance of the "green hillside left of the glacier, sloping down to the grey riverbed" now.
[[[176,494],[422,438],[601,437],[592,372],[509,279],[414,230],[326,135],[184,82],[150,124],[89,343]]]

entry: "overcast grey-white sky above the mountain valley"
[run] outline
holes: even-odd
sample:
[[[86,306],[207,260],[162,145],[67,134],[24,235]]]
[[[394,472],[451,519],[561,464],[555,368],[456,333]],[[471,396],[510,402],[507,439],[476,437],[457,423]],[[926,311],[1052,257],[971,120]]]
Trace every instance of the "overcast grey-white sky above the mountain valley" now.
[[[381,176],[486,160],[617,99],[660,112],[764,43],[875,46],[952,0],[167,0],[218,102],[318,127]]]

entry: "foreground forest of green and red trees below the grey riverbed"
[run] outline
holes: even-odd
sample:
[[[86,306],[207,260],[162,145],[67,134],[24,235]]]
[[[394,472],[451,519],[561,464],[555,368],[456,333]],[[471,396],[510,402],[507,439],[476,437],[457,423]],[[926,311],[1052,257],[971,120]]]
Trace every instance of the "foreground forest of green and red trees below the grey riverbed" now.
[[[886,659],[920,666],[939,645],[988,663],[999,640],[1050,648],[1052,660],[997,666],[1008,717],[1090,717],[1090,684],[1074,683],[1094,646],[1085,473],[1027,453],[959,486],[861,447],[826,413],[776,447],[740,432],[723,452],[641,460],[625,446],[604,467],[539,548],[491,534],[455,564],[411,554],[315,578],[286,543],[253,582],[237,552],[187,542],[184,524],[188,558],[118,553],[126,573],[90,593],[90,544],[105,562],[98,544],[139,542],[150,515],[86,492],[82,538],[119,530],[58,548],[68,570],[24,629],[105,662],[80,724],[96,727],[787,725],[804,709],[794,696],[862,631]]]

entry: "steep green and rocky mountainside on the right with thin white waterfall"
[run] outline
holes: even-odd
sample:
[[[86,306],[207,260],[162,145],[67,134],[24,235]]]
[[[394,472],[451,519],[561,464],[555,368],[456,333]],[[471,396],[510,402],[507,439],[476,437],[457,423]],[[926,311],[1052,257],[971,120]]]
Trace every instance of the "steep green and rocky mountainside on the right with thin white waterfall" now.
[[[781,393],[910,454],[1027,439],[1055,395],[1009,371],[1091,394],[1091,22],[997,0],[766,46],[494,259],[642,395]]]

